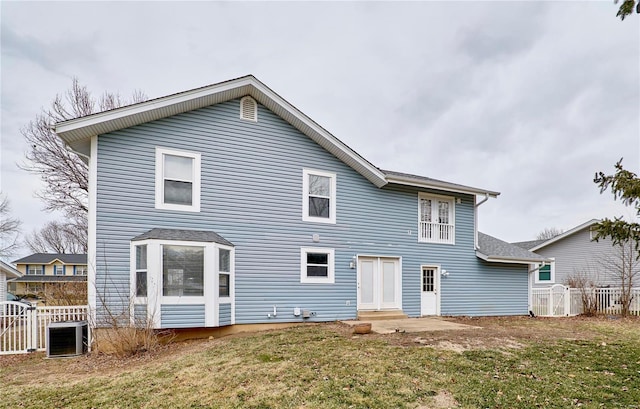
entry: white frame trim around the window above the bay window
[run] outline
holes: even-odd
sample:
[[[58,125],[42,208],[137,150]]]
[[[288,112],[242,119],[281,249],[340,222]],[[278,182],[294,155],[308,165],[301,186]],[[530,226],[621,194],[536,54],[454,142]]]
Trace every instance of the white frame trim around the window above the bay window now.
[[[193,159],[192,168],[192,204],[179,205],[164,203],[164,157],[180,156],[183,158]],[[156,180],[155,180],[155,196],[156,209],[178,210],[185,212],[200,211],[200,187],[201,187],[201,155],[197,152],[182,151],[177,149],[162,148],[156,146]]]

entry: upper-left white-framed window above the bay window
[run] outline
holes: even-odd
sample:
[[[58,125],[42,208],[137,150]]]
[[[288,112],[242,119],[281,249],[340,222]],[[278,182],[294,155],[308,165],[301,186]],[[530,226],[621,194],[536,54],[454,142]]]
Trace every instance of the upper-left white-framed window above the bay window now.
[[[200,161],[196,152],[156,148],[156,209],[200,211]]]

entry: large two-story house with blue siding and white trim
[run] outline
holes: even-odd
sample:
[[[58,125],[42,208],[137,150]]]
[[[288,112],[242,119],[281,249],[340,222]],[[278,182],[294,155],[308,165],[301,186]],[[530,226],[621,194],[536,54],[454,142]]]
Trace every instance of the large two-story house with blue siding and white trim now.
[[[531,260],[476,254],[498,192],[381,170],[253,76],[55,132],[89,163],[98,322],[130,306],[156,328],[527,313]]]

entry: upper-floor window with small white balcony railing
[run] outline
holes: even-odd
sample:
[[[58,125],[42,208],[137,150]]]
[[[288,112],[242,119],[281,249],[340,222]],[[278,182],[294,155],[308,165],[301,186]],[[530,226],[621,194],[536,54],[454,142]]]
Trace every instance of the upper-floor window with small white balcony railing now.
[[[455,244],[455,204],[447,196],[418,195],[418,241]]]

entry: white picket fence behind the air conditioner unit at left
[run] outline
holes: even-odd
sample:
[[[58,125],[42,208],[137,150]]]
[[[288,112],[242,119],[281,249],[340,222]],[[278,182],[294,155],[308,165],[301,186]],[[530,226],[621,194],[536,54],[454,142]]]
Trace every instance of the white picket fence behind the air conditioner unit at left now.
[[[44,351],[50,323],[87,321],[88,317],[86,305],[31,307],[20,302],[0,302],[0,355]]]

